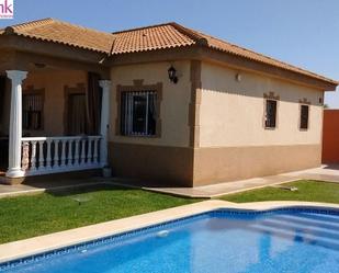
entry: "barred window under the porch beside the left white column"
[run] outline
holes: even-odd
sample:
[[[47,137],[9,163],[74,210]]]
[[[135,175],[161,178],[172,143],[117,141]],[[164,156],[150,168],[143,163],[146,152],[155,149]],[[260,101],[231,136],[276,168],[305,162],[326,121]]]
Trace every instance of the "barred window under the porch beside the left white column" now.
[[[24,129],[43,129],[43,95],[24,94],[22,96],[22,125]]]

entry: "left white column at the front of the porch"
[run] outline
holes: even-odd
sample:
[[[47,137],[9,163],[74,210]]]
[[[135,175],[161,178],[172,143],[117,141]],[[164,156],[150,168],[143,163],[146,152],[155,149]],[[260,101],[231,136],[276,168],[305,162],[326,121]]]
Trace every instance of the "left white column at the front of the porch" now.
[[[12,81],[9,169],[5,175],[9,178],[20,178],[24,175],[24,172],[21,170],[22,81],[27,77],[27,72],[19,70],[8,70],[5,72],[7,77]]]

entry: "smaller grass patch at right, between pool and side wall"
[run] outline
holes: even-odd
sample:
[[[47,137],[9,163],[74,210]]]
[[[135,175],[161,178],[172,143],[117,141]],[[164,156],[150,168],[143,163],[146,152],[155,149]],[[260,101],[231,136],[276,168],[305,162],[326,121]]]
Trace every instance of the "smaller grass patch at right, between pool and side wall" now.
[[[339,183],[301,180],[285,183],[283,185],[296,186],[298,191],[292,192],[267,186],[263,189],[225,195],[221,198],[235,203],[259,201],[309,201],[339,204]]]

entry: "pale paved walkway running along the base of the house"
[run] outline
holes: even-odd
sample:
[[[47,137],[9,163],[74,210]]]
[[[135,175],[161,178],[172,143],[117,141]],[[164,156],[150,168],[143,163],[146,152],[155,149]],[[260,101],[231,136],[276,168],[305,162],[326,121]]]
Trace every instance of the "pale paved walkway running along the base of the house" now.
[[[323,180],[339,183],[339,166],[321,166],[320,168],[282,173],[279,175],[239,180],[239,181],[225,182],[214,185],[204,185],[196,187],[156,187],[156,186],[143,186],[143,185],[138,185],[136,187],[180,196],[213,198],[229,193],[236,193],[269,185],[275,185],[301,179]],[[101,183],[120,184],[127,186],[131,186],[131,184],[133,184],[128,180],[103,179],[103,178],[70,179],[63,181],[60,180],[38,181],[35,183],[31,182],[30,184],[19,184],[19,185],[0,184],[0,197],[15,196],[22,194],[34,194],[46,191],[55,191],[67,187],[86,186]]]

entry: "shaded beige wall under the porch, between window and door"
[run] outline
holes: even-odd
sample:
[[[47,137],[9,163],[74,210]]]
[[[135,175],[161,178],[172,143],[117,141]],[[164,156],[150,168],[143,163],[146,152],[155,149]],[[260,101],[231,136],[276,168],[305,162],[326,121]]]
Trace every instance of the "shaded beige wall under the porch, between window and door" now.
[[[25,130],[31,136],[60,136],[64,135],[65,86],[77,87],[87,82],[86,71],[49,70],[29,72],[24,80],[23,92],[29,86],[34,89],[45,89],[44,129]]]

